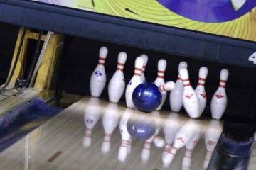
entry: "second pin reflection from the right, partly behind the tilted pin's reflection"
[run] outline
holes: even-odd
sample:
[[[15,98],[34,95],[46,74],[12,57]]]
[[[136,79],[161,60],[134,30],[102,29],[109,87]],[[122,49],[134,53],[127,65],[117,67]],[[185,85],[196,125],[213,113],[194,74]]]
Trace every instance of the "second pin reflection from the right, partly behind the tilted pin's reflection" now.
[[[201,136],[201,131],[197,131],[192,140],[186,145],[186,152],[182,160],[182,170],[189,170],[191,167],[191,159],[194,147],[198,144]]]

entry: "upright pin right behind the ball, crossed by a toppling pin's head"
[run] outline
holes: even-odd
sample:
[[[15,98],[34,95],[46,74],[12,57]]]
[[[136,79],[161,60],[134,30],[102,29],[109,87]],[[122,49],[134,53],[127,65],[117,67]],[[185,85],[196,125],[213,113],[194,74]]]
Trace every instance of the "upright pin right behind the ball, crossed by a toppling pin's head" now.
[[[156,80],[154,81],[154,84],[156,84],[156,86],[158,86],[158,87],[164,86],[164,72],[166,70],[166,64],[167,64],[167,62],[164,59],[161,59],[158,62],[157,77],[156,77]],[[161,107],[164,105],[164,102],[165,102],[166,96],[167,96],[167,91],[161,91],[161,94],[162,94],[162,100],[161,100],[159,107],[156,108],[156,111],[159,111],[161,109]]]

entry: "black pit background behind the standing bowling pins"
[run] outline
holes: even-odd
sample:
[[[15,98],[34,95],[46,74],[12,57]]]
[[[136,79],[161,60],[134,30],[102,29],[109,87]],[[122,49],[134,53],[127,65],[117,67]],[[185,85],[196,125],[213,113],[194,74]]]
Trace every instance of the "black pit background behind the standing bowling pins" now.
[[[134,72],[134,60],[137,56],[145,53],[149,55],[149,62],[146,67],[146,80],[154,81],[157,73],[157,62],[164,58],[167,60],[165,80],[176,81],[178,74],[178,63],[188,62],[188,71],[191,77],[191,84],[196,88],[198,81],[198,70],[202,66],[209,69],[206,80],[206,93],[208,103],[204,115],[210,116],[210,99],[218,88],[218,81],[221,69],[228,69],[230,76],[227,83],[228,108],[224,118],[254,118],[256,110],[256,77],[255,69],[233,67],[214,62],[191,60],[188,57],[167,55],[164,53],[137,49],[123,45],[114,45],[107,42],[97,42],[82,38],[72,38],[68,49],[68,67],[65,77],[65,91],[72,94],[90,95],[90,75],[97,66],[98,51],[102,45],[109,49],[105,69],[107,72],[107,84],[114,74],[117,66],[117,55],[120,51],[127,52],[127,63],[124,66],[124,77],[126,83],[132,78]],[[102,93],[107,98],[107,84]],[[122,97],[124,101],[124,96]],[[166,99],[164,108],[169,109],[169,96]]]

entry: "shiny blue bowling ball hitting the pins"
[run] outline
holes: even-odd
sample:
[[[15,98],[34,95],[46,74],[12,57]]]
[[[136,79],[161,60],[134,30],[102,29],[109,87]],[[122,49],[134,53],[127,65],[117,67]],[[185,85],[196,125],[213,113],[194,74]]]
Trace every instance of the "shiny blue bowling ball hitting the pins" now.
[[[159,87],[152,83],[139,84],[132,94],[134,106],[139,111],[151,112],[161,103]]]

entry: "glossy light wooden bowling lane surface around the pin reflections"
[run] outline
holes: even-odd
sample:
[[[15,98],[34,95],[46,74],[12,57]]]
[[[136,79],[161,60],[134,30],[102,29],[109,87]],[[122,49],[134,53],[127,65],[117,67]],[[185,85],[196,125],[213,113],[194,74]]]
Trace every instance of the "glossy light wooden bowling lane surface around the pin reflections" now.
[[[140,153],[143,148],[143,141],[132,141],[132,152],[125,162],[119,162],[117,159],[119,146],[121,144],[121,135],[119,126],[114,130],[111,139],[111,149],[108,154],[101,151],[104,130],[102,128],[102,119],[98,120],[97,125],[92,130],[92,143],[90,147],[83,146],[85,136],[84,115],[87,111],[97,109],[99,113],[104,113],[108,102],[100,100],[99,103],[92,103],[90,98],[84,97],[77,103],[65,109],[48,122],[41,125],[23,139],[6,149],[0,154],[0,169],[5,170],[78,170],[78,169],[163,169],[161,162],[162,148],[151,146],[151,155],[149,162],[143,164]],[[119,113],[125,107],[119,105]],[[138,111],[135,111],[139,113]],[[161,112],[161,123],[166,120],[168,112]],[[180,116],[181,122],[188,118]],[[209,120],[201,120],[202,127],[206,128]],[[160,132],[162,135],[162,132]],[[201,140],[193,151],[192,170],[203,169],[203,160],[206,155],[206,147],[201,136]],[[178,151],[174,162],[169,169],[181,169],[181,162],[184,156],[184,148]],[[252,165],[250,170],[255,169],[256,165],[255,149],[252,153]]]

